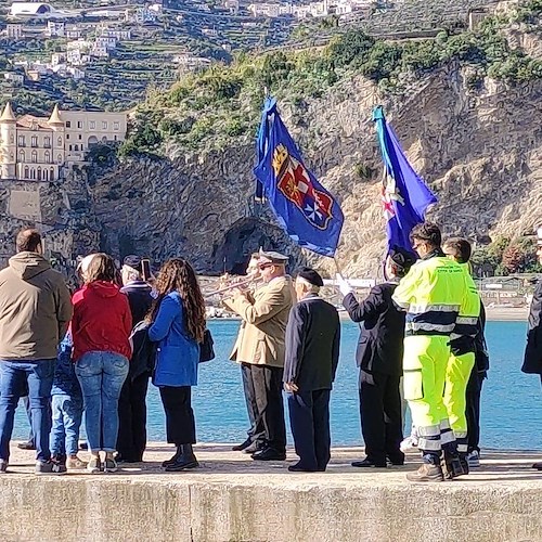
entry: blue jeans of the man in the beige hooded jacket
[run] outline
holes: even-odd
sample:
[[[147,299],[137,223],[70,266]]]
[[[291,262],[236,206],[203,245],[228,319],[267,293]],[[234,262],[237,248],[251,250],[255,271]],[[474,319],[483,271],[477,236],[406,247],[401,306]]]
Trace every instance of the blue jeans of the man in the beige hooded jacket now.
[[[51,387],[55,360],[8,361],[0,360],[0,459],[10,459],[10,440],[13,417],[18,399],[28,383],[31,426],[36,444],[36,459],[51,459],[49,433],[51,431]]]

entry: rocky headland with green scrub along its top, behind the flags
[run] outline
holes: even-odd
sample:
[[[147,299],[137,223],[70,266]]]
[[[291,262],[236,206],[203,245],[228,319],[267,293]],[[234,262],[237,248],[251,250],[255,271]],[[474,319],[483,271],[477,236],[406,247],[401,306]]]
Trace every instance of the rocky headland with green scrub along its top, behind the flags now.
[[[379,103],[439,196],[431,218],[475,242],[486,273],[534,270],[526,255],[542,219],[541,14],[542,0],[508,2],[459,35],[398,42],[349,31],[318,50],[237,55],[183,78],[137,108],[119,158],[98,150],[92,167],[59,188],[73,251],[100,238],[115,255],[183,255],[220,273],[240,272],[264,246],[332,273],[330,259],[300,253],[254,203],[267,87],[307,164],[341,203],[337,257],[348,274],[375,274],[384,250],[371,121]]]

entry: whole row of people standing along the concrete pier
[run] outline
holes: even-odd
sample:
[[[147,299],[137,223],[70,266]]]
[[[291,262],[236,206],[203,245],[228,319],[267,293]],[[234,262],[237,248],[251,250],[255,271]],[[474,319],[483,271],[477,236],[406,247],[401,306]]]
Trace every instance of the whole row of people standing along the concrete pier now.
[[[479,465],[480,391],[489,359],[485,312],[470,276],[470,245],[442,244],[436,224],[411,233],[413,253],[393,247],[386,282],[358,299],[340,274],[343,304],[360,323],[357,350],[365,454],[353,467],[404,464],[409,438],[423,463],[411,481],[443,481]],[[542,262],[542,229],[538,257]],[[299,461],[291,472],[324,472],[331,457],[330,399],[339,360],[337,310],[320,296],[324,282],[288,258],[251,255],[247,276],[224,289],[223,306],[241,318],[231,359],[240,364],[249,427],[233,447],[254,461],[286,459],[283,393]],[[10,459],[18,400],[27,397],[37,474],[116,472],[141,462],[146,447],[145,398],[158,387],[166,439],[176,452],[167,472],[195,468],[192,387],[206,340],[197,276],[172,258],[157,278],[138,256],[120,269],[102,253],[85,257],[80,288],[70,293],[42,254],[40,233],[23,230],[16,255],[0,271],[0,473]],[[542,283],[531,307],[524,371],[542,375]],[[402,393],[403,391],[403,393]],[[403,395],[403,397],[401,397]],[[85,420],[88,459],[79,456]],[[542,464],[534,468],[542,469]]]

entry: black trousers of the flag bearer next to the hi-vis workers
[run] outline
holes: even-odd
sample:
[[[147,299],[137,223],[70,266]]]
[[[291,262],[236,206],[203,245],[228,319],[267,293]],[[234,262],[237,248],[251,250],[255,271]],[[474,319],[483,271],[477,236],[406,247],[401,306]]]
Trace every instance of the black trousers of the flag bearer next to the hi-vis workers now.
[[[386,463],[386,456],[401,462],[404,454],[399,449],[403,439],[400,376],[364,375],[366,373],[361,372],[360,416],[366,456],[373,463]]]

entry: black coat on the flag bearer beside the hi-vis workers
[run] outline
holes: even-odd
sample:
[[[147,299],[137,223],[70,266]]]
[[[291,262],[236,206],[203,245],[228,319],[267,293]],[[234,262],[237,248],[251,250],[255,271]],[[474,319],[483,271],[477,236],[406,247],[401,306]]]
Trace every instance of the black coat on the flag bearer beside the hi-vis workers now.
[[[350,318],[363,322],[356,361],[370,374],[402,374],[405,312],[391,300],[396,287],[396,283],[385,282],[373,287],[361,302],[353,294],[343,299]]]

